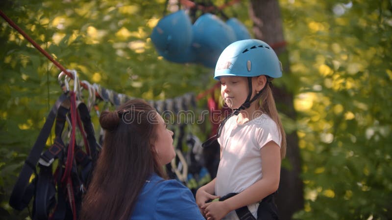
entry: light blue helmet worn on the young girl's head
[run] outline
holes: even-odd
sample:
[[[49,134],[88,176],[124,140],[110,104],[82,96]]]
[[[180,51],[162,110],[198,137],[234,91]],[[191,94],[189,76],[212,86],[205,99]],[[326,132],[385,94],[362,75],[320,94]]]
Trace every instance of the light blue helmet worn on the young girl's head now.
[[[267,43],[248,39],[227,46],[218,59],[214,79],[221,76],[282,76],[282,64]]]

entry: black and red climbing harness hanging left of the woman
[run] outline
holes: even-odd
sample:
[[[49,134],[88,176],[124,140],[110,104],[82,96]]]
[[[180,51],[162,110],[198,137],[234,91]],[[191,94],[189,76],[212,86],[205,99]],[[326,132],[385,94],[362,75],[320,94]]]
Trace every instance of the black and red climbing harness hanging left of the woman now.
[[[62,134],[67,121],[71,121],[68,125],[71,135],[69,144],[64,144]],[[54,144],[43,151],[53,123]],[[83,138],[85,150],[76,143],[76,128]],[[25,160],[9,204],[23,210],[34,198],[34,220],[76,220],[99,150],[87,106],[76,101],[74,91],[63,93],[49,112]],[[30,181],[32,174],[34,177]]]

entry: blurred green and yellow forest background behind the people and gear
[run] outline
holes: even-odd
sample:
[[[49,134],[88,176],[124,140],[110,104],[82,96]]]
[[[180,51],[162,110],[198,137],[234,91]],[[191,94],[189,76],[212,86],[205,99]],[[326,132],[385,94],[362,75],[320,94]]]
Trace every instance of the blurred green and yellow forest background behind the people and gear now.
[[[192,93],[196,115],[211,114],[222,109],[213,65],[172,62],[150,37],[162,18],[180,9],[193,25],[206,13],[222,22],[236,18],[283,64],[283,77],[273,81],[288,135],[276,201],[282,220],[392,219],[391,0],[0,2],[5,15],[80,80],[155,107]],[[207,30],[203,39],[221,41],[218,33]],[[0,218],[29,219],[28,210],[15,211],[8,200],[62,93],[60,70],[3,19],[0,42]],[[99,98],[95,105],[115,108]],[[97,112],[91,116],[98,136]],[[187,124],[201,142],[215,128],[206,118]],[[215,154],[204,152],[206,158]]]

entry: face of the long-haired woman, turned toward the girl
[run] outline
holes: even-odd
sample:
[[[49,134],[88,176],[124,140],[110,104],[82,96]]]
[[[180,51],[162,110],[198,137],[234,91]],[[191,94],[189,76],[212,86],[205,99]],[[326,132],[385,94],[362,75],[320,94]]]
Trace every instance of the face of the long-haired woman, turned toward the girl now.
[[[166,123],[161,117],[161,115],[157,114],[157,120],[155,120],[157,124],[156,135],[157,138],[154,143],[155,152],[158,155],[159,162],[161,165],[166,165],[172,161],[175,157],[174,147],[173,147],[173,132],[168,130],[166,127]]]

